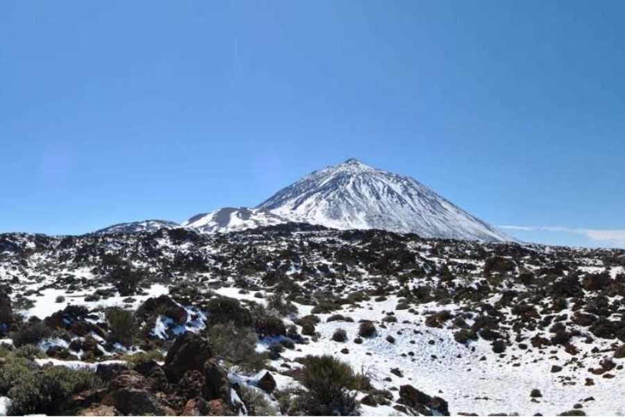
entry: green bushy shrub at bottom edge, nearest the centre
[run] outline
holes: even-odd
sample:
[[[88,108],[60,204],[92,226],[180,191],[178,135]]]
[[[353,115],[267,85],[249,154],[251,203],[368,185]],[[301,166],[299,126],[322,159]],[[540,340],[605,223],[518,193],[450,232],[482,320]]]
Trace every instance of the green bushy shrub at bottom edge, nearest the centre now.
[[[301,383],[308,393],[303,394],[303,408],[313,416],[353,416],[358,413],[356,396],[349,389],[359,386],[351,367],[330,355],[308,356],[304,359]]]

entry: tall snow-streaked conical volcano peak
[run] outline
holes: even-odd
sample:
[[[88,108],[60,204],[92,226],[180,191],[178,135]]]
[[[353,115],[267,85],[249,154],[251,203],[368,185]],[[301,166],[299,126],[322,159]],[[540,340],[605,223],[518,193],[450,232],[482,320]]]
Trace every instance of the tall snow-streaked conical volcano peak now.
[[[426,238],[512,240],[419,181],[353,158],[306,175],[256,208],[294,222],[336,229],[384,229]]]

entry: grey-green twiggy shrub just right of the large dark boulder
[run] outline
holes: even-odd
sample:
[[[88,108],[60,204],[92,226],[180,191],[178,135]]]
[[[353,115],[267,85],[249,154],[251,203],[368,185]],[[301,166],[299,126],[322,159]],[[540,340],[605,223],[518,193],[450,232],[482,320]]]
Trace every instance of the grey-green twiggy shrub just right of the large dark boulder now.
[[[216,357],[243,370],[265,366],[266,355],[256,352],[256,334],[249,327],[237,327],[233,322],[213,325],[208,329],[208,342]]]

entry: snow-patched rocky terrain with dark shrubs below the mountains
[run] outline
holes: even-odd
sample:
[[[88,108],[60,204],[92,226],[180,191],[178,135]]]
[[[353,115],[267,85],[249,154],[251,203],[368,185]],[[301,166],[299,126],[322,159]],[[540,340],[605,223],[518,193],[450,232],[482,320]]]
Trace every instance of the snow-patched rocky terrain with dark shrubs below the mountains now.
[[[625,250],[285,223],[0,235],[0,414],[606,414]]]

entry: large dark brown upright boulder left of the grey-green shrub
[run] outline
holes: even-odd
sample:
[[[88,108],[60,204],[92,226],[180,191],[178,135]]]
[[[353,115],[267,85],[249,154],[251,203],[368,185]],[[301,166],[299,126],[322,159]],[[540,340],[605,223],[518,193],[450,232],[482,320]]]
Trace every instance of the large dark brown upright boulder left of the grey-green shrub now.
[[[165,358],[165,375],[170,382],[178,382],[188,370],[204,370],[204,363],[212,357],[205,338],[185,332],[176,338]]]

